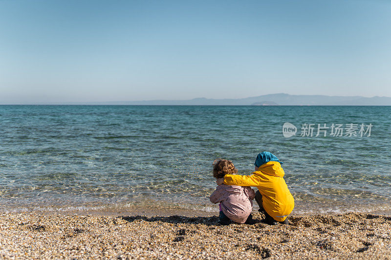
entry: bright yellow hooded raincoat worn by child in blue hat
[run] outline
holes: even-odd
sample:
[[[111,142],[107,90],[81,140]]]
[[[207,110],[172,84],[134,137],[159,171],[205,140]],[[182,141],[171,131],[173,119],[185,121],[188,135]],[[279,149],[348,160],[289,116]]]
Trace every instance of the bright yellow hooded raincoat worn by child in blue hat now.
[[[284,174],[280,162],[268,161],[252,175],[225,175],[224,184],[257,187],[267,214],[276,221],[283,221],[295,206],[293,196],[283,179]]]

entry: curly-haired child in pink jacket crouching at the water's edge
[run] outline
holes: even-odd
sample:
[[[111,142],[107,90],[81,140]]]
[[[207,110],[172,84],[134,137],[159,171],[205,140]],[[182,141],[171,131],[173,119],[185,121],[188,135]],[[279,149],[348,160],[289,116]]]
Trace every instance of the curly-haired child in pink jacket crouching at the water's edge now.
[[[213,177],[216,179],[237,172],[230,160],[218,160],[213,164]],[[238,223],[251,223],[254,197],[254,190],[250,187],[219,185],[209,199],[215,204],[220,202],[218,223],[228,225],[231,220]]]

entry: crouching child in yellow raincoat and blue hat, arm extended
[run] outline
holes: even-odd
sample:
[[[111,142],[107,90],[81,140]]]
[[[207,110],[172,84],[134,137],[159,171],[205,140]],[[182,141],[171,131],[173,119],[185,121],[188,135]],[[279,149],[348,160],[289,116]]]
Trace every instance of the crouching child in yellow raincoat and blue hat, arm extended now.
[[[252,175],[225,175],[218,179],[217,185],[256,186],[255,200],[259,211],[265,214],[265,222],[277,225],[287,224],[287,216],[292,212],[295,202],[283,179],[283,162],[269,152],[261,152],[255,160],[255,172]]]

